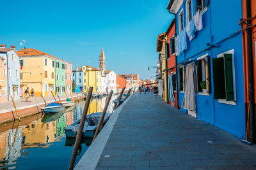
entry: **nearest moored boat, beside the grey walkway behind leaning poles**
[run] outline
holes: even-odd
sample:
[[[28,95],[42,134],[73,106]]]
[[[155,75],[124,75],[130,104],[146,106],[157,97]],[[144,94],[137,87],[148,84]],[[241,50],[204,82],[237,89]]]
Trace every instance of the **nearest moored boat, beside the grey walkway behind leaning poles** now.
[[[97,112],[97,113],[92,113],[92,114],[86,116],[86,121],[84,123],[84,128],[83,128],[83,137],[93,138],[94,133],[97,129],[98,123],[100,121],[101,115],[102,115],[102,112]],[[106,124],[110,115],[111,115],[111,113],[109,113],[109,112],[107,112],[105,114],[105,117],[104,117],[104,120],[102,123],[103,125]],[[97,119],[97,124],[94,124],[94,125],[91,124],[91,121],[93,118]],[[76,137],[76,134],[79,129],[80,121],[81,121],[81,119],[77,120],[76,122],[69,125],[65,129],[66,137],[73,137],[73,138]]]

